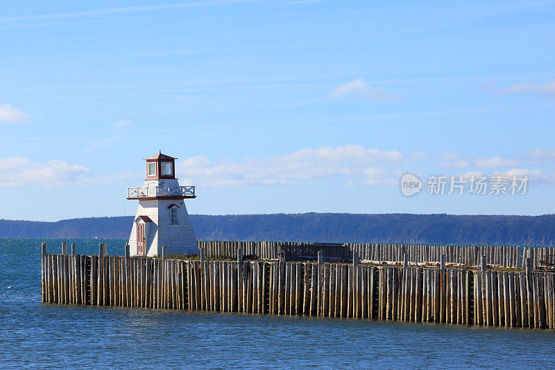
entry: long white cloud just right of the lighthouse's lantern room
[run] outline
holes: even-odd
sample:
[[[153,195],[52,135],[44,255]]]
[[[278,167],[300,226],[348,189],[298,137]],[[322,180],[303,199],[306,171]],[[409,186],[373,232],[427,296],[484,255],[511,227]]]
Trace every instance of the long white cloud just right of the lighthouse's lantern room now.
[[[203,187],[281,186],[332,176],[369,177],[372,175],[367,171],[369,165],[405,161],[395,150],[358,145],[322,146],[273,158],[246,158],[241,162],[214,163],[204,156],[192,157],[179,162],[177,171],[191,185]]]

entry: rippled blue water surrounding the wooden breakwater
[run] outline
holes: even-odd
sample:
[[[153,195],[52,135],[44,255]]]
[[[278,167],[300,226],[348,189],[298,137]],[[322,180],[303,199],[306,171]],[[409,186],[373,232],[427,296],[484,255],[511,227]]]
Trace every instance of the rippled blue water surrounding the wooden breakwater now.
[[[62,240],[48,240],[49,253]],[[101,240],[79,240],[96,253]],[[108,240],[113,254],[124,241]],[[555,367],[555,333],[40,302],[40,240],[0,239],[0,367]]]

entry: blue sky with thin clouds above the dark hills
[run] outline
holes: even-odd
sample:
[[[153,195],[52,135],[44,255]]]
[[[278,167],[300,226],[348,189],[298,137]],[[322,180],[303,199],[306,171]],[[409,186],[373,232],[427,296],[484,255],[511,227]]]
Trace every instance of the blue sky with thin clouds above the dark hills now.
[[[0,218],[132,215],[159,149],[191,213],[553,213],[554,44],[549,1],[4,1]]]

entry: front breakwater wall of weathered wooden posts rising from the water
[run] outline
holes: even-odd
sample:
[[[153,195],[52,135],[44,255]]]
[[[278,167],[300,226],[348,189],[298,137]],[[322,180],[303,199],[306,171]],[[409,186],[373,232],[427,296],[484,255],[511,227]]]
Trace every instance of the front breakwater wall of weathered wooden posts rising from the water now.
[[[42,301],[555,329],[555,274],[323,262],[46,254]],[[127,254],[128,255],[128,254]]]

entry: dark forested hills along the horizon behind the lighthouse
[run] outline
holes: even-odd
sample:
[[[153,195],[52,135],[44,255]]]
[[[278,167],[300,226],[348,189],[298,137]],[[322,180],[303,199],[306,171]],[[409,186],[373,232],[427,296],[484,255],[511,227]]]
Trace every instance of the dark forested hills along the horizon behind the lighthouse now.
[[[190,215],[199,240],[555,245],[555,215],[300,213]],[[0,237],[129,237],[133,217],[57,222],[0,219]]]

